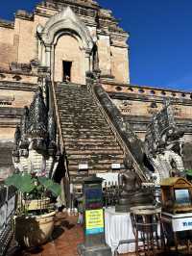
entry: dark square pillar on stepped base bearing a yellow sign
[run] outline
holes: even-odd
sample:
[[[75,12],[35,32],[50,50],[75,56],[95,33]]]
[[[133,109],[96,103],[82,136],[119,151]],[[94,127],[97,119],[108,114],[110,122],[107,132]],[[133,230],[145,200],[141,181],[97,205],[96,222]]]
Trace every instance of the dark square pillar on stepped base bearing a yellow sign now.
[[[96,175],[84,179],[84,243],[78,245],[81,256],[112,256],[105,240],[102,182]]]

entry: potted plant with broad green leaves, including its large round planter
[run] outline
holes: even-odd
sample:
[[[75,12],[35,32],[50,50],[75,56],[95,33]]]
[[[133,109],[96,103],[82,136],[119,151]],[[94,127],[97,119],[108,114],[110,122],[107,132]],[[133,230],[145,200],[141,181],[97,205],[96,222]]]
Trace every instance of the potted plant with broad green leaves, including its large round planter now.
[[[60,185],[36,174],[13,174],[5,184],[18,191],[14,218],[15,240],[21,246],[46,243],[54,229],[56,212],[50,197],[60,195]]]

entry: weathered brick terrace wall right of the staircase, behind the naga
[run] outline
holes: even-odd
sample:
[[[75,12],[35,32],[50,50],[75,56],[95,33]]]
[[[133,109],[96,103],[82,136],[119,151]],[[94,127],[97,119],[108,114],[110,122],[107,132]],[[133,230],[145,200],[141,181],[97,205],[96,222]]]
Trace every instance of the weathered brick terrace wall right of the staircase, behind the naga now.
[[[165,100],[171,100],[176,122],[185,129],[184,140],[192,141],[191,92],[112,84],[106,81],[102,81],[102,84],[142,141],[153,115],[164,106]]]

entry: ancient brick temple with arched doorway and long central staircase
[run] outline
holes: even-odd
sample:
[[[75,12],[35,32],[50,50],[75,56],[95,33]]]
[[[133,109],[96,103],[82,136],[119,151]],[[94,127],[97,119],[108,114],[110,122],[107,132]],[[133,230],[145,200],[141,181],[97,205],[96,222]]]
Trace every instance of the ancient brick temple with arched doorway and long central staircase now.
[[[0,168],[12,168],[15,127],[39,86],[54,112],[57,144],[72,180],[83,175],[80,164],[90,173],[106,172],[127,153],[139,172],[139,139],[166,99],[184,140],[192,141],[191,92],[132,85],[128,38],[112,13],[93,0],[45,0],[33,13],[17,11],[13,22],[0,20]],[[121,131],[127,127],[127,147],[111,110],[123,119]]]

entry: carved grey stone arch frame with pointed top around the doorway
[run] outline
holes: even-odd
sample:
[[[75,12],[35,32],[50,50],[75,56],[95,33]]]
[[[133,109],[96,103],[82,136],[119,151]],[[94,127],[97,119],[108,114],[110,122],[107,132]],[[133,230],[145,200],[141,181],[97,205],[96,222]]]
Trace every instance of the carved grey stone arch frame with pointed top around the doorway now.
[[[84,22],[67,7],[52,16],[44,28],[37,26],[39,38],[38,58],[42,65],[50,67],[54,80],[55,48],[60,37],[70,35],[79,41],[79,47],[84,52],[84,74],[90,71],[92,63],[91,51],[93,40]],[[85,83],[85,81],[84,81]]]

